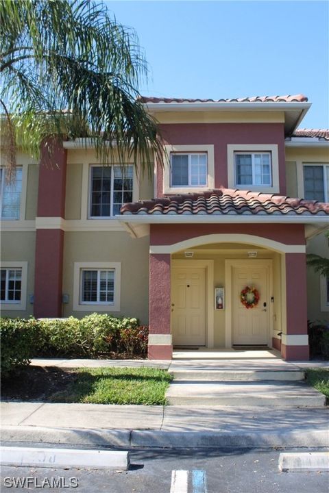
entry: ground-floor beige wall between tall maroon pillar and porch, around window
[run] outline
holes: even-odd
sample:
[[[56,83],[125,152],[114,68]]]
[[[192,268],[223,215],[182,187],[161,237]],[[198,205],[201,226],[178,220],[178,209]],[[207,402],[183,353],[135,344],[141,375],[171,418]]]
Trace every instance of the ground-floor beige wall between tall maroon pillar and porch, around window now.
[[[125,232],[67,232],[64,236],[63,293],[69,294],[63,316],[82,318],[73,311],[75,262],[121,262],[121,309],[115,316],[133,316],[147,324],[149,303],[149,238],[133,240]],[[97,309],[95,309],[97,311]],[[110,311],[109,311],[110,313]]]

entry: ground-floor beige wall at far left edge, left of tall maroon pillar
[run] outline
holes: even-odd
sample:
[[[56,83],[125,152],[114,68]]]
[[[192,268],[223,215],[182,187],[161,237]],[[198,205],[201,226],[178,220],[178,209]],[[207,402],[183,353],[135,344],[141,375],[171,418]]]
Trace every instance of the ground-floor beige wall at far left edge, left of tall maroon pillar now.
[[[35,249],[36,234],[33,231],[3,231],[1,233],[1,260],[27,262],[26,310],[1,310],[1,316],[24,318],[33,314],[33,305],[29,303],[29,296],[34,293]]]

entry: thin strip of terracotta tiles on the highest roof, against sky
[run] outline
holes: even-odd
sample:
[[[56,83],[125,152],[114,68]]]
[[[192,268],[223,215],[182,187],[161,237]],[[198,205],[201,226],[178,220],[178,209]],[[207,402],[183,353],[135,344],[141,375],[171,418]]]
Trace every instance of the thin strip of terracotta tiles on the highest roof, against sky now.
[[[293,96],[254,96],[235,99],[186,99],[186,98],[158,98],[145,97],[138,98],[142,103],[305,103],[308,101],[304,94]]]

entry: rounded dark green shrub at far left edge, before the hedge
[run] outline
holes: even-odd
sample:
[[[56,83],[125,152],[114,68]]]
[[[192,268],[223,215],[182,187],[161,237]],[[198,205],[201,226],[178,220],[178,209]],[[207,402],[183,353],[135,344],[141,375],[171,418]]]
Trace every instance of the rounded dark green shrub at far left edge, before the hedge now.
[[[1,373],[26,366],[38,351],[39,324],[35,318],[1,318]]]

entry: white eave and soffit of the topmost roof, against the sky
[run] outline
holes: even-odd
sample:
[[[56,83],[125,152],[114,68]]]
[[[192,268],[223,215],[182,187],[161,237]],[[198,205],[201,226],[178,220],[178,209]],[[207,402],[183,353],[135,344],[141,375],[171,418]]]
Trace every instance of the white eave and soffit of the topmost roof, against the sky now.
[[[291,134],[300,125],[312,103],[280,102],[195,102],[195,103],[144,103],[147,112],[156,117],[160,112],[284,112],[284,131]]]

